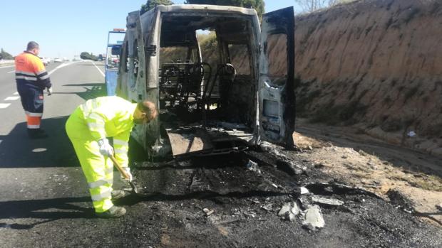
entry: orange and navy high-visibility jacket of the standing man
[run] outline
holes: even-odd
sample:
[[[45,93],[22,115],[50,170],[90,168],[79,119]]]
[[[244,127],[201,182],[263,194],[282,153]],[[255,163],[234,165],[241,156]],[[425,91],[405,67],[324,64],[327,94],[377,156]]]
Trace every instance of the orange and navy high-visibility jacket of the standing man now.
[[[52,86],[43,62],[33,53],[24,51],[24,53],[16,56],[15,64],[17,83],[39,87],[41,90]]]

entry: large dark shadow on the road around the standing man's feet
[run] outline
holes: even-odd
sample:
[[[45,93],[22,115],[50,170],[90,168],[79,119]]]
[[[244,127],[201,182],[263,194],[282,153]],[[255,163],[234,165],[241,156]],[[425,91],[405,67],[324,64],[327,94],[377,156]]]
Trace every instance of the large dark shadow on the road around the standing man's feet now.
[[[68,117],[43,119],[46,139],[29,139],[26,122],[0,136],[0,168],[41,168],[80,166],[65,131]]]

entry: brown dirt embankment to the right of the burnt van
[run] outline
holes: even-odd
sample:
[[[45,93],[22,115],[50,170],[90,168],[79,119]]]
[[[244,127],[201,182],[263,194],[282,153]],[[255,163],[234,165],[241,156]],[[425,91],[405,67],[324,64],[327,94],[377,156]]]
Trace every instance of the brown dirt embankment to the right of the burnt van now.
[[[357,1],[297,16],[297,116],[441,155],[441,24],[436,0]]]

